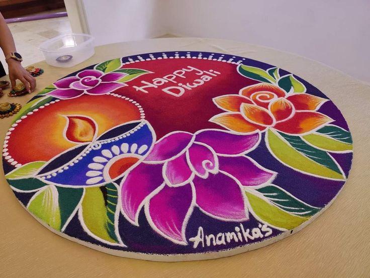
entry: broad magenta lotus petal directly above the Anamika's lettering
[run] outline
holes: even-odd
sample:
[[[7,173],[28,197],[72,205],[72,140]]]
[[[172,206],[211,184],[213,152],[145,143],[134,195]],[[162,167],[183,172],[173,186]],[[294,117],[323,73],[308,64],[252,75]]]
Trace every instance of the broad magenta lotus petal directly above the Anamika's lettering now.
[[[197,205],[208,215],[222,220],[247,220],[244,193],[231,177],[210,174],[208,178],[196,176],[193,180]]]

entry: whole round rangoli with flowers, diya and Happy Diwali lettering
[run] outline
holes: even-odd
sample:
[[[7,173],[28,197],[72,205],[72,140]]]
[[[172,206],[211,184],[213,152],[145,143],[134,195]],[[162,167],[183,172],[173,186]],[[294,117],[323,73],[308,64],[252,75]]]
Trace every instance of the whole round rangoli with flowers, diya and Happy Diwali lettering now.
[[[232,255],[299,231],[335,199],[348,126],[284,69],[208,52],[123,57],[14,116],[6,178],[44,226],[125,257]]]

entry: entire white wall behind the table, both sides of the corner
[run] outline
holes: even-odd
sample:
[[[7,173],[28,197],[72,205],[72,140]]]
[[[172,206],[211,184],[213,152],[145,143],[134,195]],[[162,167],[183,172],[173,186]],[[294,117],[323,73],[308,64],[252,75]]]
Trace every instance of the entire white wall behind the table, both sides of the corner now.
[[[80,17],[97,45],[165,33],[231,39],[297,53],[370,82],[370,0],[65,1],[82,3]]]

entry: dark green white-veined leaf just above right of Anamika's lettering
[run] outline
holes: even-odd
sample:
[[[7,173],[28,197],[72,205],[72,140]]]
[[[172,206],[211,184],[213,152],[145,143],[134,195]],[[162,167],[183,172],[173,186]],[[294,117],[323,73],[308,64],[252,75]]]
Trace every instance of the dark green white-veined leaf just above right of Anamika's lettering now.
[[[263,196],[275,206],[294,215],[302,217],[313,216],[320,211],[320,208],[307,205],[274,185],[257,189],[257,191],[263,194]]]

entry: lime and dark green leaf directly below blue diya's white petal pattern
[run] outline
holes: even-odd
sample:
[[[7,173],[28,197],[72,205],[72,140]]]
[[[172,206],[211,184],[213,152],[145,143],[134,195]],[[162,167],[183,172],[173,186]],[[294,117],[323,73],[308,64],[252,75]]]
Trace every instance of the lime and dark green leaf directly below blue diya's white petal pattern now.
[[[81,221],[96,239],[122,245],[115,233],[117,201],[117,188],[113,183],[101,188],[85,188]]]

